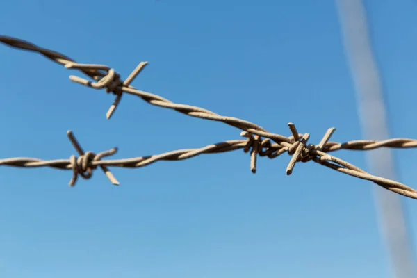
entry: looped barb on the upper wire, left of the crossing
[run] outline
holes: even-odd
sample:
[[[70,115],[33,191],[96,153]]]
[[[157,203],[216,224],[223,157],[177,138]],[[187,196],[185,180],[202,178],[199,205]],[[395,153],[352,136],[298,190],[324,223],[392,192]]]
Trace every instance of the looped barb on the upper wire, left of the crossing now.
[[[135,70],[127,77],[125,81],[122,81],[120,79],[120,74],[115,72],[114,69],[106,66],[106,65],[90,65],[90,64],[79,64],[79,63],[67,63],[65,67],[67,69],[79,69],[79,70],[96,70],[97,76],[94,76],[93,79],[97,82],[91,82],[87,79],[83,79],[79,76],[70,76],[71,81],[74,81],[76,83],[79,83],[81,85],[86,85],[90,88],[95,89],[102,89],[106,88],[106,92],[112,92],[113,95],[116,95],[115,100],[113,101],[113,104],[108,108],[108,111],[106,113],[107,119],[110,119],[113,113],[115,113],[115,110],[117,106],[120,104],[120,101],[122,100],[122,93],[124,90],[131,87],[131,83],[133,80],[140,74],[140,72],[145,68],[147,65],[147,62],[141,62],[138,67],[136,67]]]

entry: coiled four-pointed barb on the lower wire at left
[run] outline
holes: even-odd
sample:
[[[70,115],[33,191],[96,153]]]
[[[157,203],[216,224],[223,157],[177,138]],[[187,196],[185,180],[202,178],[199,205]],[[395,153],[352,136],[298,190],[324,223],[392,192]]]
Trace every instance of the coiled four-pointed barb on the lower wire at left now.
[[[95,164],[95,162],[101,160],[101,158],[104,158],[105,156],[111,156],[117,152],[117,148],[109,149],[108,151],[101,152],[99,154],[95,154],[94,152],[84,152],[72,131],[67,131],[67,136],[70,138],[72,145],[79,153],[78,158],[74,155],[70,157],[70,166],[73,172],[70,186],[75,186],[79,176],[83,177],[83,179],[90,179],[92,177],[92,171],[97,168],[97,164]],[[114,185],[119,184],[119,181],[117,181],[106,166],[100,165],[100,167],[105,172],[108,179],[110,179],[111,183]]]

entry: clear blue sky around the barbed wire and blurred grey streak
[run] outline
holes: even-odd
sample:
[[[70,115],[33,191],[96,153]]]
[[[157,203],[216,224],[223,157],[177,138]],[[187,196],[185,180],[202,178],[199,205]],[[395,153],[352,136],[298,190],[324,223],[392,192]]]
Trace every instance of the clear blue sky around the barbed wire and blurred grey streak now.
[[[392,136],[417,138],[416,1],[367,1]],[[318,142],[363,138],[334,1],[4,1],[1,33],[99,63],[180,104]],[[38,54],[0,46],[2,158],[69,158],[66,131],[115,158],[240,139],[240,131],[71,83]],[[368,169],[363,152],[335,153]],[[416,150],[395,152],[417,186]],[[243,152],[97,170],[89,181],[1,167],[1,277],[391,277],[372,185],[314,163],[287,177],[288,155]],[[417,202],[403,198],[409,215]],[[417,222],[410,218],[411,235]],[[414,240],[415,241],[415,240]]]

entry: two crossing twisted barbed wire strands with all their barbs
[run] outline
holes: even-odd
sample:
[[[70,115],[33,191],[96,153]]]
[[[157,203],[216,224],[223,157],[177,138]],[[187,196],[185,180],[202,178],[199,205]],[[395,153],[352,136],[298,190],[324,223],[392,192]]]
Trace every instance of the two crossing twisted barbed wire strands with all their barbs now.
[[[70,159],[50,160],[44,161],[38,158],[7,158],[1,159],[0,165],[7,165],[11,167],[52,167],[59,170],[72,170],[73,177],[70,181],[70,186],[74,186],[79,176],[84,179],[90,179],[92,177],[92,171],[97,167],[101,167],[110,179],[110,181],[117,185],[119,182],[108,167],[127,167],[137,168],[144,167],[155,163],[156,161],[180,161],[188,158],[193,158],[201,154],[217,154],[222,152],[231,152],[238,149],[243,149],[244,152],[250,152],[250,168],[252,172],[256,172],[256,161],[258,156],[267,156],[268,158],[276,158],[281,154],[287,152],[291,155],[291,161],[288,163],[286,174],[291,174],[297,162],[306,163],[308,161],[316,162],[325,167],[329,167],[338,172],[348,174],[352,177],[359,179],[366,179],[373,181],[400,195],[417,199],[417,190],[405,186],[397,181],[390,179],[384,179],[382,177],[376,177],[368,172],[361,170],[340,158],[336,158],[328,154],[329,152],[335,152],[340,149],[350,150],[371,150],[380,147],[392,147],[392,148],[411,148],[417,147],[417,140],[409,138],[395,138],[383,141],[374,140],[356,140],[344,143],[330,142],[335,128],[328,129],[318,145],[309,144],[309,133],[298,133],[295,124],[288,123],[288,127],[292,133],[292,136],[281,136],[280,134],[270,133],[263,129],[261,126],[241,120],[236,117],[226,117],[218,115],[212,111],[208,111],[204,108],[197,106],[190,106],[186,104],[175,104],[174,102],[164,99],[158,95],[154,95],[149,92],[143,92],[132,87],[130,84],[140,74],[143,68],[147,65],[147,62],[141,62],[138,67],[129,75],[129,77],[122,81],[120,74],[115,72],[114,69],[106,65],[92,65],[92,64],[79,64],[71,58],[60,54],[56,51],[44,49],[38,47],[35,44],[19,40],[17,38],[11,38],[7,36],[0,36],[0,42],[7,44],[10,47],[17,49],[23,49],[26,51],[35,51],[43,56],[53,60],[54,62],[64,65],[68,69],[80,70],[83,74],[87,75],[94,81],[88,81],[82,79],[79,76],[70,76],[70,79],[76,83],[86,85],[90,88],[101,89],[106,88],[106,92],[113,93],[116,96],[115,101],[106,113],[108,119],[111,118],[117,105],[122,99],[122,94],[127,93],[130,95],[136,95],[154,106],[163,108],[169,108],[180,113],[189,115],[191,117],[199,117],[206,120],[213,120],[217,122],[223,122],[234,126],[243,132],[240,136],[245,137],[245,140],[230,140],[224,141],[213,145],[208,145],[199,149],[180,149],[172,152],[166,152],[163,154],[152,156],[141,156],[136,158],[116,159],[116,160],[102,160],[106,156],[111,156],[117,152],[117,148],[110,149],[106,152],[95,154],[93,152],[84,152],[79,142],[74,137],[71,131],[68,131],[67,136],[70,138],[72,145],[79,153],[79,157],[71,156]]]

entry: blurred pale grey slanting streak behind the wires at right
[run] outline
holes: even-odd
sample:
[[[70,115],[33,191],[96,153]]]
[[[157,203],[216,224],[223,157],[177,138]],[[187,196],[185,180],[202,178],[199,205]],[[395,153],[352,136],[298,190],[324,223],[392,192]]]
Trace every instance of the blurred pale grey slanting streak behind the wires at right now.
[[[354,79],[363,136],[369,140],[389,138],[379,72],[368,34],[366,10],[362,0],[336,0],[341,19],[343,42]],[[393,153],[376,149],[367,153],[373,174],[396,179]],[[398,278],[415,278],[411,243],[399,195],[373,186],[379,211],[379,226],[386,239]]]

